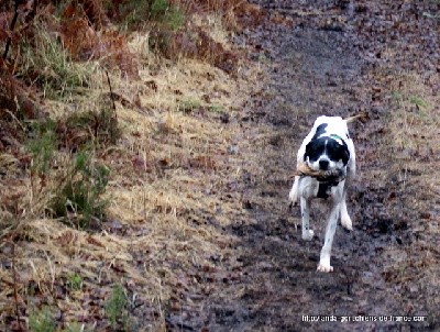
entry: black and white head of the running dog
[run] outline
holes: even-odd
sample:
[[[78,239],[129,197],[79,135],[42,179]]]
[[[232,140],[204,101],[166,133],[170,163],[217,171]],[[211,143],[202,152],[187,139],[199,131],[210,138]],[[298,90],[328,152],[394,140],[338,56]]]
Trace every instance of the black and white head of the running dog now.
[[[326,131],[327,123],[322,123],[311,141],[306,146],[304,162],[308,162],[315,169],[342,169],[350,159],[349,146],[345,137]]]

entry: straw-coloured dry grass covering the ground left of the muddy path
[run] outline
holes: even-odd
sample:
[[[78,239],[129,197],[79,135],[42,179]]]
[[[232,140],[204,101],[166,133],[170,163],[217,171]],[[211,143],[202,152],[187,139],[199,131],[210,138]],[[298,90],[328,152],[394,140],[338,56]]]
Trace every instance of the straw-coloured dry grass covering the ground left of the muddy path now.
[[[223,195],[243,165],[243,156],[230,151],[243,141],[233,119],[258,86],[257,70],[243,67],[232,78],[197,60],[165,63],[147,51],[145,37],[133,35],[130,44],[139,54],[140,79],[110,73],[112,90],[122,97],[116,102],[122,136],[94,156],[111,174],[100,230],[44,217],[56,175],[72,163],[65,152],[56,152],[56,169],[44,185],[29,173],[20,180],[9,173],[9,190],[1,185],[8,193],[0,209],[0,321],[16,318],[18,306],[28,323],[31,312],[48,305],[64,322],[89,329],[106,319],[103,303],[111,286],[121,284],[151,308],[144,321],[133,316],[132,323],[165,331],[164,308],[178,300],[173,287],[233,245],[223,231],[242,209],[239,197]],[[53,119],[102,108],[109,87],[98,63],[74,103],[47,102]],[[2,155],[1,163],[13,168],[16,161]],[[80,289],[69,288],[72,276],[79,277]],[[201,287],[196,279],[190,284]]]

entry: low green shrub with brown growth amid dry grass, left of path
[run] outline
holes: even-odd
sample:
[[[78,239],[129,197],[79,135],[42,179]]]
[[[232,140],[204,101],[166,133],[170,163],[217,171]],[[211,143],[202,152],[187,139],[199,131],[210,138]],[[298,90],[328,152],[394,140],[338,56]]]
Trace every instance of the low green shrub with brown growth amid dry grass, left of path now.
[[[32,188],[52,218],[79,229],[102,218],[108,200],[101,197],[110,173],[96,154],[102,144],[117,140],[111,114],[74,113],[57,123],[48,119],[35,124],[28,143]]]

